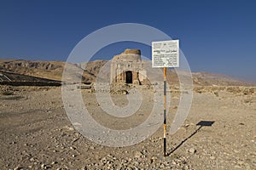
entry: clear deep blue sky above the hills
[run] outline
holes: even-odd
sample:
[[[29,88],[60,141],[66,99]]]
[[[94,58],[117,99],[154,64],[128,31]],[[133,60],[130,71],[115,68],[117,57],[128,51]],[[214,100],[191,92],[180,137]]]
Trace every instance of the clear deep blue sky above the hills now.
[[[192,71],[256,82],[255,8],[255,1],[242,0],[2,0],[0,58],[66,60],[74,46],[92,31],[118,23],[140,23],[180,39]],[[103,58],[109,59],[125,47],[141,46],[117,44],[102,49]]]

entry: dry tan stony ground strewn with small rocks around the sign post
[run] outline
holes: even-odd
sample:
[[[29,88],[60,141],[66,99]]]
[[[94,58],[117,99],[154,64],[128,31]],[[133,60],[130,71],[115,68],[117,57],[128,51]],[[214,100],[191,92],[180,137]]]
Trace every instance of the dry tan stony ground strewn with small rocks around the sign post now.
[[[109,123],[111,117],[102,116],[95,94],[81,91],[91,115],[118,129],[137,126],[148,116],[153,92],[143,90],[148,98],[129,123]],[[126,95],[112,94],[113,101],[126,105]],[[195,88],[183,127],[167,134],[166,157],[161,127],[127,147],[102,146],[84,138],[67,118],[61,88],[2,86],[0,101],[0,169],[256,169],[256,88]],[[168,131],[178,101],[173,92]],[[207,125],[202,121],[212,126],[200,126]]]

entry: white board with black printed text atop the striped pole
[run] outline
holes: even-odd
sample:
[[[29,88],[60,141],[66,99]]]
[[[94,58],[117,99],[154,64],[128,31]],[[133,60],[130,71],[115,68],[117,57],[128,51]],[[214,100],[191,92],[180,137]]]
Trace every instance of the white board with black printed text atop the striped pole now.
[[[178,40],[152,42],[152,67],[178,67]]]

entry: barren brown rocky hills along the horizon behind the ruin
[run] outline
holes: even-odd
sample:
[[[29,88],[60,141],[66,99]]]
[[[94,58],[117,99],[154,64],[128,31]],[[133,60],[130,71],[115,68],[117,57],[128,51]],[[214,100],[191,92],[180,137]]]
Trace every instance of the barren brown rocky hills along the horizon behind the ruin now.
[[[107,62],[107,60],[95,60],[88,63],[68,64],[70,70],[68,76],[79,78],[81,75],[78,72],[83,72],[82,82],[95,82],[98,72]],[[61,81],[65,64],[64,61],[0,59],[0,71]],[[255,83],[210,72],[194,72],[192,76],[195,86],[256,86]],[[172,84],[179,83],[174,70],[167,71],[167,81]]]

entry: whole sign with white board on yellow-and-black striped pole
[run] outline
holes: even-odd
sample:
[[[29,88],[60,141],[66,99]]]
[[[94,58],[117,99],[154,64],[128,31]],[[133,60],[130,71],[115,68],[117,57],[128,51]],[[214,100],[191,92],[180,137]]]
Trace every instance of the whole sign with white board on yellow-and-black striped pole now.
[[[166,156],[166,67],[179,66],[179,41],[152,42],[152,67],[164,68],[164,156]]]

